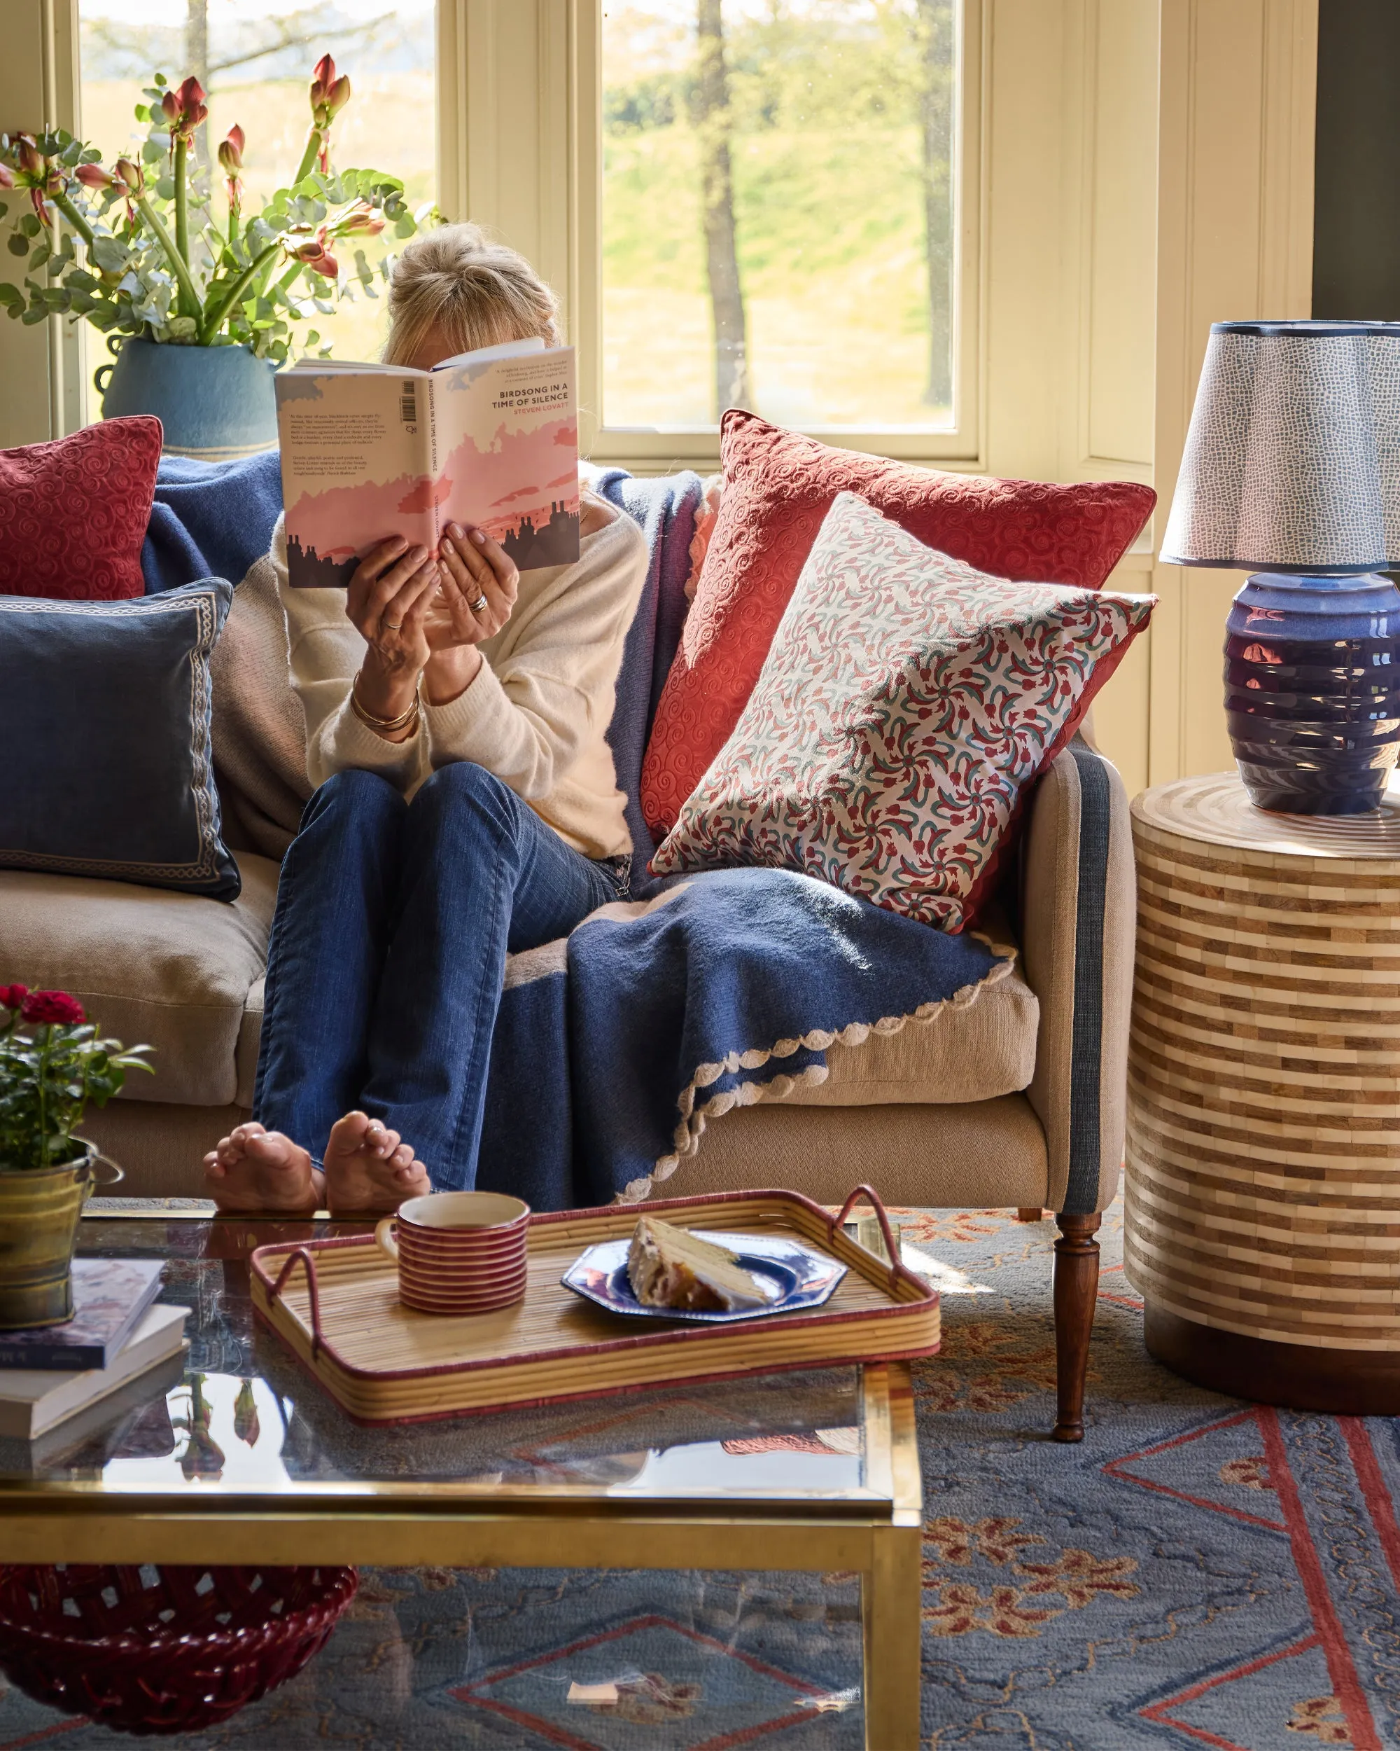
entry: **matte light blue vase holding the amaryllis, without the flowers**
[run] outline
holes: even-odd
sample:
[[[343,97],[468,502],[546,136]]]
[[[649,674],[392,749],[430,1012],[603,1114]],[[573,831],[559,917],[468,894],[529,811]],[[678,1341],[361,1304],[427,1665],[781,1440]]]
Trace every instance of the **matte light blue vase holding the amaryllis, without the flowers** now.
[[[276,448],[273,366],[247,347],[173,347],[124,340],[94,375],[102,417],[154,413],[164,454],[229,462]],[[108,378],[103,383],[103,378]]]

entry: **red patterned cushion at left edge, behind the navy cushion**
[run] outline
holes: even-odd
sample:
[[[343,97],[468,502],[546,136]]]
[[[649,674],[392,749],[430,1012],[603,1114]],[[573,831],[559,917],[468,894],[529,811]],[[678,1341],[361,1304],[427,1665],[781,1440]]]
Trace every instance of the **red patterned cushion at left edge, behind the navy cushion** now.
[[[144,595],[161,422],[142,413],[0,450],[0,595]]]

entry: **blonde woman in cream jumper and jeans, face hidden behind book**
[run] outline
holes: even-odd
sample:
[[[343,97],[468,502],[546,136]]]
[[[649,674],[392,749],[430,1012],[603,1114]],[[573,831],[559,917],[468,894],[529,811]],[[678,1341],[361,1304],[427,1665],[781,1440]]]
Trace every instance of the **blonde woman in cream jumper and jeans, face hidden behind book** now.
[[[539,336],[555,294],[476,226],[415,238],[385,362]],[[282,865],[257,1122],[205,1163],[229,1210],[394,1210],[476,1175],[506,954],[626,897],[632,840],[604,732],[646,571],[588,494],[579,560],[527,571],[481,529],[394,536],[348,588],[289,588],[290,683],[318,790]],[[404,1142],[411,1138],[411,1145]],[[422,1159],[420,1159],[422,1157]]]

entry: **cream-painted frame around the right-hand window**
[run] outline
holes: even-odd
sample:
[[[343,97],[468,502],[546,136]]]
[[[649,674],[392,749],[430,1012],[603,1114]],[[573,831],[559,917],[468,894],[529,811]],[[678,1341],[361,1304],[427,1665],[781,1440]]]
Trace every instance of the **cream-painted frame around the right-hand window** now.
[[[719,466],[719,427],[648,431],[607,425],[602,394],[602,0],[579,0],[574,23],[576,70],[576,247],[578,298],[572,338],[579,352],[579,445],[593,462],[639,475]],[[956,109],[954,170],[957,193],[954,226],[952,322],[954,424],[945,431],[900,427],[802,427],[824,443],[908,462],[975,464],[982,434],[984,289],[982,235],[984,179],[984,0],[961,0],[954,25]],[[598,418],[602,408],[604,418]]]

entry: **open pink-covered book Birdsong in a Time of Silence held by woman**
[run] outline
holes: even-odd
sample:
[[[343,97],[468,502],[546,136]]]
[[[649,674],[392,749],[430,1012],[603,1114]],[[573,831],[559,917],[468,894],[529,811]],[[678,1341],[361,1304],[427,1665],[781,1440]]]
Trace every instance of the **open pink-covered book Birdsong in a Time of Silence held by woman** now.
[[[450,522],[520,571],[579,557],[572,347],[511,341],[430,371],[303,359],[275,387],[296,588],[343,588],[385,536],[436,550]]]

